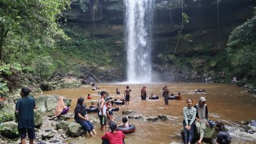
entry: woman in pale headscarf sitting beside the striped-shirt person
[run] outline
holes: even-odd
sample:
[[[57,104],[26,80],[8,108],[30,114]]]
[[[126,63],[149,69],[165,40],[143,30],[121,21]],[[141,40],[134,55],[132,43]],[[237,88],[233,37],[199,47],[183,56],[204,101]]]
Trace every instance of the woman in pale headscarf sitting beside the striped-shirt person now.
[[[196,109],[196,134],[200,135],[198,143],[202,143],[206,126],[208,126],[208,108],[205,104],[205,97],[200,97],[198,104],[194,106]]]

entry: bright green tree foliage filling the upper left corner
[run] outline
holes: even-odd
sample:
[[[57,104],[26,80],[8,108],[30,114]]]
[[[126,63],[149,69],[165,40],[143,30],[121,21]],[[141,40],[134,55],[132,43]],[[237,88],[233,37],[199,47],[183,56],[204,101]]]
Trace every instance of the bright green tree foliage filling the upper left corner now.
[[[67,38],[58,28],[61,12],[69,0],[4,0],[0,2],[0,56],[5,63],[30,65],[36,52],[54,48],[58,38]],[[2,52],[2,53],[1,53]]]

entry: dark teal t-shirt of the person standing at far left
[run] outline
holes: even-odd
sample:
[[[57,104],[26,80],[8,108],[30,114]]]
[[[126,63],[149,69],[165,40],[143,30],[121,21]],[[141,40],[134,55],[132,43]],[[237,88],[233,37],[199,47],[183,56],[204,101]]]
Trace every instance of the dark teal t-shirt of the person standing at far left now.
[[[33,97],[22,97],[17,101],[16,110],[19,111],[18,128],[34,129],[34,108],[36,106]]]

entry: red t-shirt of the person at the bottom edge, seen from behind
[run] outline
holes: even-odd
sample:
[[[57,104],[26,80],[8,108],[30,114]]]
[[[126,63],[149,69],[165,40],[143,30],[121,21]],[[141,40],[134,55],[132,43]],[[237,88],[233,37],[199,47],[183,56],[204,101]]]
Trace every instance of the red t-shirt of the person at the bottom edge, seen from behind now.
[[[122,131],[116,131],[116,133],[113,132],[107,132],[102,136],[102,140],[105,139],[109,142],[109,144],[123,144],[123,139],[125,138],[125,135]]]

